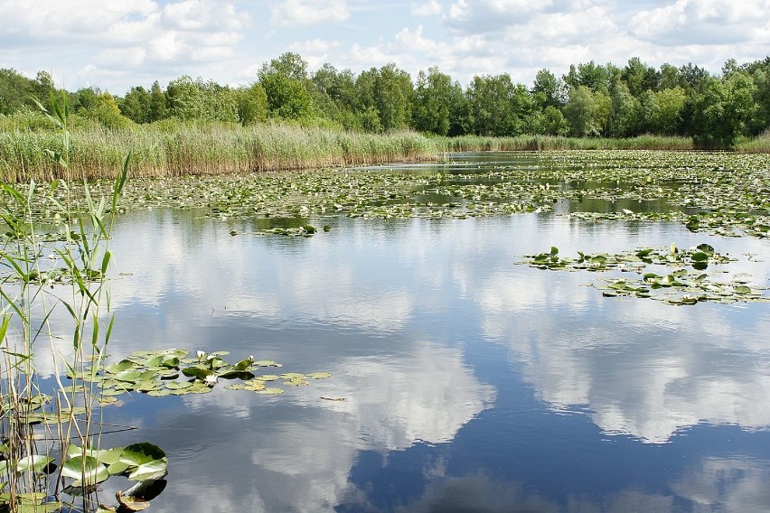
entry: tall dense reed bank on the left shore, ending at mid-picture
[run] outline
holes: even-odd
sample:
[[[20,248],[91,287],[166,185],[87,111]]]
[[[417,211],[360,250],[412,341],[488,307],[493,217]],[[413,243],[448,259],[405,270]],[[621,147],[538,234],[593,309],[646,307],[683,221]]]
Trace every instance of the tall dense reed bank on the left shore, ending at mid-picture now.
[[[7,128],[0,121],[0,128]],[[386,135],[320,127],[237,126],[161,122],[112,130],[95,123],[71,130],[70,166],[52,163],[43,148],[59,151],[61,138],[48,130],[0,132],[0,180],[5,182],[90,180],[120,173],[128,151],[134,176],[242,173],[343,165],[371,165],[434,158],[435,143],[413,132]]]

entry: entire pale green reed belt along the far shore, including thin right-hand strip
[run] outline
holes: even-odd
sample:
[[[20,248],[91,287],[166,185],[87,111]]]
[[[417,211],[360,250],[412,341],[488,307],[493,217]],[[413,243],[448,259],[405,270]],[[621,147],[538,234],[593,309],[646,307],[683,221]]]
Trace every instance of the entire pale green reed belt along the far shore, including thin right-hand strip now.
[[[52,162],[43,148],[61,150],[61,137],[31,112],[0,116],[0,180],[50,182],[114,178],[131,151],[133,176],[182,176],[278,171],[431,160],[446,152],[548,150],[692,150],[686,137],[641,135],[577,138],[552,135],[439,137],[415,132],[360,134],[322,126],[166,119],[151,125],[110,129],[71,118],[70,166]],[[741,142],[737,151],[770,152],[770,134]]]

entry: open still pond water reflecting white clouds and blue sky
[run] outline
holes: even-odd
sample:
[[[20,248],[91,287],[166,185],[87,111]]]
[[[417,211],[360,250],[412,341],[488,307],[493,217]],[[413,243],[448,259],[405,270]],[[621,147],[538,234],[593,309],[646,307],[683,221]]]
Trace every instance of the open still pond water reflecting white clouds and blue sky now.
[[[595,274],[521,265],[551,246],[706,242],[766,285],[768,242],[562,214],[331,217],[312,238],[121,216],[115,361],[228,350],[333,377],[281,396],[121,396],[106,420],[137,429],[103,443],[167,453],[155,513],[770,510],[767,303],[606,298]]]

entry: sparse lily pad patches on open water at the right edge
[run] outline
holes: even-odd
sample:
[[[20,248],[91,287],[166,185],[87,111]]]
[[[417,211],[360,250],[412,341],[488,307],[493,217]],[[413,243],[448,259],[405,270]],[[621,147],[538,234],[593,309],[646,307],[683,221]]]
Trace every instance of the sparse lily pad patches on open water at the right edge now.
[[[526,255],[523,263],[538,269],[565,271],[624,271],[638,277],[600,279],[592,286],[605,297],[634,296],[663,301],[669,304],[695,304],[702,302],[737,303],[766,302],[767,287],[749,284],[745,276],[733,276],[731,280],[716,280],[703,273],[709,265],[736,262],[736,258],[719,254],[714,247],[700,244],[691,249],[670,247],[641,248],[619,254],[598,253],[589,255],[581,251],[577,257],[559,257],[559,248],[549,252]],[[662,274],[652,271],[664,269]]]

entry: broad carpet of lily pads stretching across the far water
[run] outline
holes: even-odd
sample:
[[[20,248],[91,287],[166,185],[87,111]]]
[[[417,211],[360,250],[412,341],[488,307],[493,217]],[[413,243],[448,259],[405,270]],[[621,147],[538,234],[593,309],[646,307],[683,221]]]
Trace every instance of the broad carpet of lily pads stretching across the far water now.
[[[222,219],[463,219],[548,211],[567,201],[568,215],[594,221],[669,220],[725,236],[770,234],[767,154],[571,150],[516,156],[521,158],[470,165],[464,154],[456,154],[436,164],[437,173],[421,167],[409,173],[394,165],[134,178],[118,209],[194,209]],[[92,184],[92,193],[98,195],[100,187],[108,191],[111,182]],[[76,187],[70,194],[77,198]],[[639,208],[622,206],[631,202]],[[36,211],[45,219],[52,200],[39,198]]]

